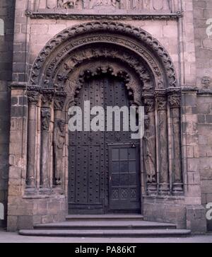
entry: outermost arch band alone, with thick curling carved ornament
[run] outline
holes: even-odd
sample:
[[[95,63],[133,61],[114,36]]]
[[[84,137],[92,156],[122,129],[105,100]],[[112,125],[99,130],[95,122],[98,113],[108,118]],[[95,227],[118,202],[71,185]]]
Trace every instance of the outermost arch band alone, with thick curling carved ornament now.
[[[85,43],[88,44],[90,40],[90,34],[100,32],[116,33],[116,36],[105,36],[105,38],[102,38],[102,35],[99,35],[95,38],[95,40],[97,41],[103,40],[102,42],[107,42],[108,40],[112,40],[111,42],[114,42],[114,39],[117,38],[118,35],[125,35],[126,37],[139,40],[139,42],[141,42],[141,45],[143,45],[143,48],[140,48],[139,45],[135,45],[133,42],[129,42],[129,40],[127,41],[127,38],[122,39],[122,42],[119,42],[120,38],[116,39],[117,42],[119,42],[119,44],[121,43],[124,46],[125,43],[128,48],[131,48],[131,50],[137,52],[139,51],[139,55],[141,57],[142,55],[146,55],[145,47],[148,47],[151,50],[151,52],[153,52],[153,54],[158,58],[158,60],[160,60],[160,63],[163,64],[165,69],[165,76],[167,76],[168,86],[177,86],[177,76],[175,72],[175,67],[167,51],[162,45],[160,45],[160,42],[158,42],[158,40],[153,38],[150,34],[148,34],[145,30],[142,30],[141,28],[135,28],[131,25],[115,23],[110,21],[96,21],[76,25],[72,28],[67,28],[66,30],[63,30],[61,33],[54,36],[54,38],[52,38],[52,40],[50,40],[47,43],[47,45],[45,45],[44,49],[40,52],[40,55],[35,60],[30,81],[33,84],[40,84],[40,73],[42,69],[44,69],[45,67],[45,61],[51,56],[52,52],[54,52],[55,49],[59,47],[59,45],[61,45],[62,42],[66,42],[70,38],[74,38],[76,35],[82,35],[84,36],[84,39],[81,40],[81,43],[79,45],[81,46]],[[72,47],[76,47],[76,45]],[[55,59],[54,62],[56,63],[57,59]],[[157,72],[158,68],[155,67],[155,69]]]

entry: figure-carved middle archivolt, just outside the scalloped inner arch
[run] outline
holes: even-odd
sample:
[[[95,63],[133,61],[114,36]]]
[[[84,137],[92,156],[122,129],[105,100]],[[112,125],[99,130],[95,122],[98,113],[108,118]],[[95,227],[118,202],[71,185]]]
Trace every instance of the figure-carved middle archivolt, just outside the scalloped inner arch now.
[[[50,84],[51,79],[53,79],[54,86],[61,87],[76,69],[80,71],[83,69],[81,65],[88,62],[93,65],[93,63],[100,60],[101,64],[110,62],[110,67],[113,72],[120,66],[124,67],[125,73],[131,73],[129,69],[133,69],[134,73],[137,74],[139,78],[137,82],[133,82],[133,79],[131,79],[130,82],[128,81],[129,87],[133,90],[134,94],[141,91],[141,88],[148,88],[149,91],[153,91],[154,84],[151,78],[151,72],[141,64],[141,60],[136,59],[134,56],[130,55],[129,52],[122,52],[115,48],[93,47],[92,49],[88,48],[74,52],[74,55],[69,55],[67,59],[64,59],[63,63],[57,64],[57,67],[52,72],[50,70],[47,72],[45,84]],[[113,62],[119,63],[119,66],[112,67]],[[94,69],[94,66],[92,68]],[[97,69],[98,68],[100,67],[97,67]],[[126,69],[128,69],[128,71],[126,71]],[[117,72],[117,74],[121,74],[121,72]],[[71,81],[73,80],[73,77],[71,77]],[[76,78],[76,84],[78,84],[78,78]],[[141,98],[136,100],[136,102],[138,101],[140,103]]]

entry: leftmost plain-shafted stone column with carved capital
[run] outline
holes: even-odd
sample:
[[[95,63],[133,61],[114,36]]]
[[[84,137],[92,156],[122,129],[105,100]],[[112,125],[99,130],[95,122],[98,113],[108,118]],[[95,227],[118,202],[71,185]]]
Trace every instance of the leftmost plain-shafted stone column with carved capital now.
[[[37,127],[37,103],[40,99],[38,87],[28,86],[28,166],[26,176],[26,193],[35,193],[36,170],[36,127]]]

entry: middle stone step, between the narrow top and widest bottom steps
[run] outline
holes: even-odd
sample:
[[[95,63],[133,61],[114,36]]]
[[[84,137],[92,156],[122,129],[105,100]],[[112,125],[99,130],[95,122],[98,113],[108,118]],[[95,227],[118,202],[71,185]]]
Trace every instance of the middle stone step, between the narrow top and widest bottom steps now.
[[[51,224],[36,224],[34,229],[176,229],[176,225],[159,222],[144,222],[142,220],[81,220]]]

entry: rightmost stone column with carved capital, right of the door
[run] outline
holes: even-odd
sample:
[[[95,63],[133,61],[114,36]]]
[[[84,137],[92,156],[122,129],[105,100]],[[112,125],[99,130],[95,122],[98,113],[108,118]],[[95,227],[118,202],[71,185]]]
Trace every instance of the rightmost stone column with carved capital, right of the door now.
[[[181,94],[180,91],[170,92],[168,98],[171,110],[172,119],[172,139],[173,139],[173,161],[172,161],[172,194],[183,194],[182,183],[182,160],[181,160],[181,125],[180,125],[180,108],[181,108]]]

